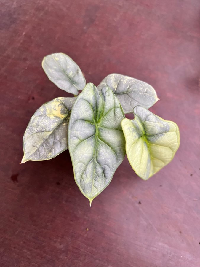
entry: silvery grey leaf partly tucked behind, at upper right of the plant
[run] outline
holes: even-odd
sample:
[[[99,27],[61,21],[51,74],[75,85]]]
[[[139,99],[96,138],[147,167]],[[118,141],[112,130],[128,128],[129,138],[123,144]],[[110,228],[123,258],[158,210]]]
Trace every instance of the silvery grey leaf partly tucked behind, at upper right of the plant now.
[[[108,86],[113,90],[124,113],[132,112],[137,105],[148,109],[159,100],[151,85],[121,74],[113,73],[105,77],[97,86],[98,90],[101,90],[103,86]]]

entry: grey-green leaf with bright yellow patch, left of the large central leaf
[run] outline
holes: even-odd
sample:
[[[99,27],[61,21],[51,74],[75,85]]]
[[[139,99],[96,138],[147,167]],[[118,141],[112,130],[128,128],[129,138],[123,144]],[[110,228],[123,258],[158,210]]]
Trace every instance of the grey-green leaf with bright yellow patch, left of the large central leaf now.
[[[21,163],[49,160],[68,148],[68,122],[75,100],[75,97],[58,97],[35,112],[23,137]]]

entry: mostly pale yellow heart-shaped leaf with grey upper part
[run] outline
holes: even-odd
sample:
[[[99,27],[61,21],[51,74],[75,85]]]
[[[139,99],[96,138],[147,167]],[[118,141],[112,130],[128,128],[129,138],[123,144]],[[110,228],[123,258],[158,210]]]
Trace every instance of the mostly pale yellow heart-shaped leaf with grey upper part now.
[[[137,175],[147,180],[174,157],[180,144],[179,129],[176,123],[141,106],[135,107],[133,113],[134,120],[121,122],[127,158]]]

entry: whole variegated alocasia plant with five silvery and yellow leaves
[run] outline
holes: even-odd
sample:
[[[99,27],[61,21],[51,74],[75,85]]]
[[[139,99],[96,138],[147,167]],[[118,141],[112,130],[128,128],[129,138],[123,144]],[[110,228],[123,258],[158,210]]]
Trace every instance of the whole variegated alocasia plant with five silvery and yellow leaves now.
[[[158,101],[151,85],[121,74],[108,75],[97,87],[86,84],[79,66],[63,53],[48,55],[42,67],[74,97],[58,97],[35,112],[23,137],[21,163],[49,160],[68,148],[76,184],[91,205],[126,153],[144,180],[172,160],[178,126],[148,111]],[[124,113],[132,111],[134,119],[126,119]]]

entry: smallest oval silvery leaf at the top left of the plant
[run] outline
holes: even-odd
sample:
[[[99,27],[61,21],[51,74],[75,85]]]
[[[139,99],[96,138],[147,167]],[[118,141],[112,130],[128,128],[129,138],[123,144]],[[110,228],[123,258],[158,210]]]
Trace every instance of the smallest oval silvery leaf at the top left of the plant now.
[[[79,66],[63,53],[47,55],[42,61],[42,68],[60,89],[78,95],[86,85],[85,78]]]

